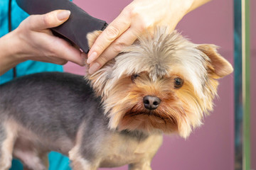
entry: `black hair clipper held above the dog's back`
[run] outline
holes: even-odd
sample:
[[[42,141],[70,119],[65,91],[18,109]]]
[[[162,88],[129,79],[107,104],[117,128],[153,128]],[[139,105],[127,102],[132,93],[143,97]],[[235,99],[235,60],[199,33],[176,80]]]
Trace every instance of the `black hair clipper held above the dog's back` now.
[[[70,0],[16,0],[28,14],[44,14],[57,9],[66,9],[71,12],[68,21],[62,25],[51,28],[60,37],[67,38],[75,45],[78,45],[83,52],[88,52],[89,47],[86,35],[94,30],[104,30],[107,27],[106,21],[94,18]]]

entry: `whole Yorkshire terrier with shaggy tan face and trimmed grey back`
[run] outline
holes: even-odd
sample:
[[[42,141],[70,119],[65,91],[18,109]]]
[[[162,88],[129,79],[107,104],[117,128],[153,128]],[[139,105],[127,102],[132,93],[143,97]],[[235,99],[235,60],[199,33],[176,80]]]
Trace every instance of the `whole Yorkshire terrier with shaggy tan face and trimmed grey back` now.
[[[88,35],[90,45],[100,32]],[[213,110],[218,79],[233,72],[215,45],[156,28],[87,77],[43,72],[0,86],[0,169],[20,159],[47,169],[47,153],[75,170],[151,169],[163,134],[188,137]]]

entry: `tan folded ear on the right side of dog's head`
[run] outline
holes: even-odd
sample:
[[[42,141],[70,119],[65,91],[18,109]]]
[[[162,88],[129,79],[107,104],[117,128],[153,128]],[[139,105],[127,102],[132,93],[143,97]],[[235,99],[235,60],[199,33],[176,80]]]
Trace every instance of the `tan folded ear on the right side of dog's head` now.
[[[213,71],[218,77],[225,77],[233,72],[232,65],[225,60],[218,52],[215,45],[202,44],[197,46],[198,50],[201,50],[210,58],[210,70]]]

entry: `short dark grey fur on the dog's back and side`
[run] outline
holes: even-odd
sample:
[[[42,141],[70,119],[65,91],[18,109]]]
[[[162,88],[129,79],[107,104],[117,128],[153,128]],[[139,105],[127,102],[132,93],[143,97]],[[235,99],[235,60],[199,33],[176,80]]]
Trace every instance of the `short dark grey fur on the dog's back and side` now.
[[[68,137],[74,142],[82,121],[91,124],[87,126],[91,129],[94,125],[103,125],[97,129],[107,128],[100,99],[95,98],[82,76],[60,72],[32,74],[1,85],[0,94],[1,118],[11,117],[53,141]],[[87,135],[92,134],[89,131]]]

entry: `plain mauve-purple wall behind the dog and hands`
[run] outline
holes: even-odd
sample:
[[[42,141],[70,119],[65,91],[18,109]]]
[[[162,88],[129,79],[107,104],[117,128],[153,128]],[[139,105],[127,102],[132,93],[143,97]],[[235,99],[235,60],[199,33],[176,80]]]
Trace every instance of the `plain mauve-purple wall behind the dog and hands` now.
[[[73,0],[87,13],[110,23],[127,6],[129,0]],[[252,1],[255,6],[255,1]],[[255,8],[254,8],[255,11]],[[253,12],[252,16],[256,16]],[[252,21],[252,62],[256,61],[255,30]],[[210,43],[220,46],[219,52],[233,64],[233,0],[214,0],[188,13],[178,24],[177,29],[196,43]],[[82,31],[82,30],[81,30]],[[254,64],[255,65],[255,64]],[[66,72],[84,74],[85,69],[75,64],[65,65]],[[252,73],[255,72],[252,64]],[[253,77],[253,75],[252,75]],[[252,79],[252,87],[256,85]],[[201,128],[194,130],[187,140],[177,136],[165,136],[164,144],[152,161],[152,169],[161,170],[231,170],[234,169],[234,104],[233,74],[220,80],[219,98],[215,108],[204,120]],[[252,88],[252,101],[256,99]],[[253,102],[252,102],[253,105]],[[255,119],[255,106],[252,107],[252,120]],[[255,152],[256,123],[252,122],[252,169],[256,169]],[[117,168],[127,169],[126,166]],[[102,169],[103,170],[103,169]],[[106,170],[106,169],[105,169]]]

